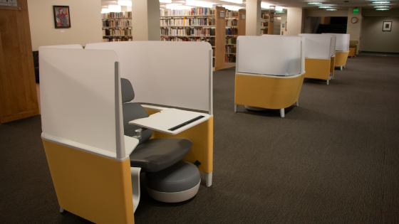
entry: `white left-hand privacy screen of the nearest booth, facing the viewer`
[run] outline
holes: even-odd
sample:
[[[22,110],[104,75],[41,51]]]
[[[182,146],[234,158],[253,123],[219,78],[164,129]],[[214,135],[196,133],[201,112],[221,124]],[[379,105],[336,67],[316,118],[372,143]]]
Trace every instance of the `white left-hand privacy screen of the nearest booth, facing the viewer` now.
[[[115,154],[115,61],[113,50],[40,47],[43,133]]]

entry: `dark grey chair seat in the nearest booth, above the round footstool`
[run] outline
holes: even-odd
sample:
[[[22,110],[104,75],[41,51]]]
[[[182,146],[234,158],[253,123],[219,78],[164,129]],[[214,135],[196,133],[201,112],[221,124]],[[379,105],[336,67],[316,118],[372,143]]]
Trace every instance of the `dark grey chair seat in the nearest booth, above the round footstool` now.
[[[149,139],[130,154],[130,166],[157,172],[180,161],[191,146],[189,139]]]

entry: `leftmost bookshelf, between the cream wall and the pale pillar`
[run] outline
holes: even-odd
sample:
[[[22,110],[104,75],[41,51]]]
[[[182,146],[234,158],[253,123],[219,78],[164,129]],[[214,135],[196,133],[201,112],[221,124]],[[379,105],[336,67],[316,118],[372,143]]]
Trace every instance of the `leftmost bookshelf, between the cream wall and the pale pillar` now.
[[[101,14],[103,21],[103,42],[133,41],[132,12],[110,12]]]

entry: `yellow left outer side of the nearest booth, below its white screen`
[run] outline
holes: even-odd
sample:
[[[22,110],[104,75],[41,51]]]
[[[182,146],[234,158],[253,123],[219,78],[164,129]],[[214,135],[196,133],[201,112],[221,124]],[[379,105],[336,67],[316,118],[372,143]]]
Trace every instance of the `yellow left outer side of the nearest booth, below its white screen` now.
[[[129,158],[115,161],[42,140],[62,208],[93,223],[134,223]]]

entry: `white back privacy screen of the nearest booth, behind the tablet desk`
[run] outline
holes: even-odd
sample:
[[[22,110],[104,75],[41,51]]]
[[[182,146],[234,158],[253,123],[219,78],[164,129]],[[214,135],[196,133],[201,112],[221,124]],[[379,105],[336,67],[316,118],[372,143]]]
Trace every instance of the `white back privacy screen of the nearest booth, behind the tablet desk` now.
[[[89,43],[115,50],[120,77],[132,82],[133,102],[212,111],[212,46],[204,42]]]

